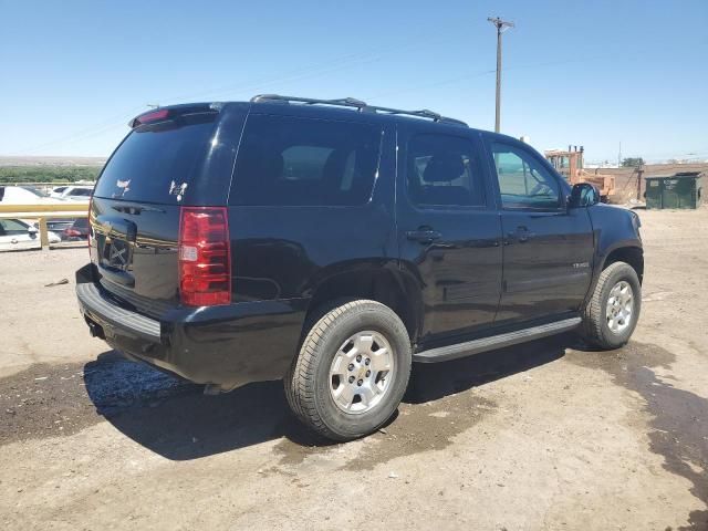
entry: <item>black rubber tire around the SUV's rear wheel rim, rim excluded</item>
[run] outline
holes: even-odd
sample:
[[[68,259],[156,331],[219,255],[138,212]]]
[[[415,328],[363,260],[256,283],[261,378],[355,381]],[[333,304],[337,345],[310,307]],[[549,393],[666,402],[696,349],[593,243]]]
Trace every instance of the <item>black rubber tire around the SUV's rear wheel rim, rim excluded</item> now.
[[[284,378],[285,396],[306,426],[332,440],[352,440],[375,431],[395,413],[410,376],[410,340],[388,306],[375,301],[340,301],[315,316],[300,354]],[[314,321],[313,320],[313,321]],[[311,321],[312,322],[312,321]],[[330,368],[341,347],[355,334],[373,331],[391,345],[393,369],[385,393],[363,413],[343,410],[332,396]]]

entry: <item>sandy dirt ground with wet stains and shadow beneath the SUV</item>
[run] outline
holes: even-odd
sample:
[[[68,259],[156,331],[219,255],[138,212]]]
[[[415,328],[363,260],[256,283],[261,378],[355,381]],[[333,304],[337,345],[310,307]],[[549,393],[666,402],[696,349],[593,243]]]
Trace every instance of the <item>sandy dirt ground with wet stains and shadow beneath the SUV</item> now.
[[[0,254],[0,529],[706,530],[708,209],[641,217],[628,346],[416,367],[397,418],[346,445],[279,383],[204,396],[91,339],[84,249]]]

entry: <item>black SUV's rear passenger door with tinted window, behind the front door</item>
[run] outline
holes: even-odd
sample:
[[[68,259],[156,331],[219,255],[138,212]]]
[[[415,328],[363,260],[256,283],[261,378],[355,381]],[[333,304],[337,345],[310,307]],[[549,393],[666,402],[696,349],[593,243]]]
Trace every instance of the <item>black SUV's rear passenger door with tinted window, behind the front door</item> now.
[[[467,128],[398,127],[398,246],[402,267],[423,289],[424,343],[452,343],[494,320],[501,225],[482,153]]]

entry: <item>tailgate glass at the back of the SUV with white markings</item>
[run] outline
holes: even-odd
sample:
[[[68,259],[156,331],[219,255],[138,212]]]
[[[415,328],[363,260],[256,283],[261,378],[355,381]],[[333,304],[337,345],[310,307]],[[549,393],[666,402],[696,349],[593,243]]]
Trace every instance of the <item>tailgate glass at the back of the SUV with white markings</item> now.
[[[207,154],[215,113],[177,116],[132,132],[106,164],[94,195],[173,202]],[[170,197],[171,196],[171,197]]]

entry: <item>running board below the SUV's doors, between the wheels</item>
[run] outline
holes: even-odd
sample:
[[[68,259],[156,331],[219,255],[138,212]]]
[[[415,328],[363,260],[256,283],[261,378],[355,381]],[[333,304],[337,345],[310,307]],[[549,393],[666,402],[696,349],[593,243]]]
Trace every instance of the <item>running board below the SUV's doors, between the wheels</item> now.
[[[479,354],[480,352],[493,351],[496,348],[560,334],[561,332],[568,332],[569,330],[575,329],[581,321],[580,317],[564,319],[563,321],[531,326],[530,329],[518,330],[506,334],[492,335],[491,337],[482,337],[456,345],[430,348],[429,351],[415,353],[413,361],[419,363],[447,362],[448,360],[456,360],[471,354]]]

